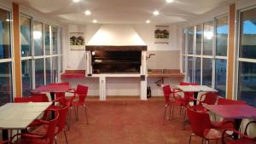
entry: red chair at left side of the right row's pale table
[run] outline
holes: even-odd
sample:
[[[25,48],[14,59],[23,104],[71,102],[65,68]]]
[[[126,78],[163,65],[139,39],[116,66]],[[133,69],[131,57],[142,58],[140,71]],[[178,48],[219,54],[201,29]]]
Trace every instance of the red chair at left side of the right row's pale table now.
[[[163,92],[164,92],[164,96],[165,96],[165,112],[164,112],[164,122],[163,122],[163,125],[165,124],[165,119],[166,119],[166,109],[167,107],[170,107],[170,113],[169,113],[169,119],[171,118],[171,111],[172,111],[172,117],[173,117],[173,111],[174,111],[174,106],[172,108],[172,105],[175,104],[175,96],[178,96],[180,97],[180,95],[177,95],[176,92],[174,91],[174,89],[172,90],[171,87],[170,87],[170,84],[163,84],[162,85],[162,89],[163,89]],[[171,101],[171,97],[173,98],[173,101]]]

